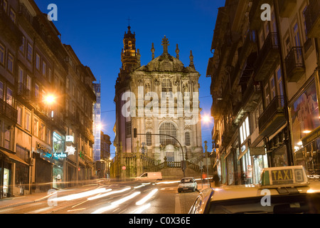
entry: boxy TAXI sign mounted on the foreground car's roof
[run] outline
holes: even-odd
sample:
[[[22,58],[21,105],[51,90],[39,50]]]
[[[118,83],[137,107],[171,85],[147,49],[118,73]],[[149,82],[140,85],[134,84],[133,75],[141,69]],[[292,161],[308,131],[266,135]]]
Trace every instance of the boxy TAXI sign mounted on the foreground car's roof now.
[[[270,167],[262,170],[260,187],[297,187],[309,185],[302,165]]]

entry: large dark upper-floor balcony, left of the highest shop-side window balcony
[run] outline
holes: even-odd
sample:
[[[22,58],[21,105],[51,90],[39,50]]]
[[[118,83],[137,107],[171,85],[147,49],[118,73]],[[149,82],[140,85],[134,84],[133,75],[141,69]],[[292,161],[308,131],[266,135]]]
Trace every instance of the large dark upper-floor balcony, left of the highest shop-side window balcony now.
[[[269,33],[255,61],[255,81],[263,81],[279,60],[279,42],[277,33]]]

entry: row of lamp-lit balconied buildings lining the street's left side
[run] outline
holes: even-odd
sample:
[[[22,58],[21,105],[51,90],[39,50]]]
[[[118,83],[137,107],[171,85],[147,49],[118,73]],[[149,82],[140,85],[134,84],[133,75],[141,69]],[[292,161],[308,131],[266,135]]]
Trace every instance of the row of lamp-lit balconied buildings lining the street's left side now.
[[[90,68],[33,0],[1,0],[0,31],[0,197],[90,179]]]

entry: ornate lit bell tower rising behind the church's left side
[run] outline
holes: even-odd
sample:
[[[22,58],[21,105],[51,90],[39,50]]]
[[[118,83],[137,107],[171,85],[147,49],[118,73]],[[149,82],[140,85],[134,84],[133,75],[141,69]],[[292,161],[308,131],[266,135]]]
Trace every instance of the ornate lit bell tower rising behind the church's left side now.
[[[130,31],[131,27],[128,26],[128,31],[124,32],[123,44],[121,53],[122,70],[134,71],[137,67],[138,58],[136,51],[136,34]]]

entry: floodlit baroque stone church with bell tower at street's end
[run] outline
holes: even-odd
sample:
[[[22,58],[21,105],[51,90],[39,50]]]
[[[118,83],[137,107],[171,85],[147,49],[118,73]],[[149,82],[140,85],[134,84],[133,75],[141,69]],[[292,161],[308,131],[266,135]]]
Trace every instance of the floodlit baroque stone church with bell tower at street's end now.
[[[158,162],[199,157],[203,153],[198,100],[200,74],[193,65],[192,51],[189,65],[184,66],[179,60],[178,44],[176,57],[171,56],[169,39],[164,36],[161,56],[155,58],[152,43],[152,59],[141,66],[135,33],[130,29],[128,26],[124,33],[122,68],[115,85],[116,155],[139,152]],[[126,165],[125,161],[122,163]]]

